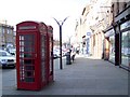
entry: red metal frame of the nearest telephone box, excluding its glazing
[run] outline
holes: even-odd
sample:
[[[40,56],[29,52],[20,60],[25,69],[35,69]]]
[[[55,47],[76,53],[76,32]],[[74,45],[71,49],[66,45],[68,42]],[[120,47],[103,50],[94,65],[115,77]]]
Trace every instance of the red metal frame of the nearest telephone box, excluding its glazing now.
[[[20,29],[21,27],[21,29]],[[42,69],[41,69],[41,34],[44,36],[47,41],[47,45],[44,45],[44,51],[48,51],[48,27],[44,23],[36,23],[36,22],[23,22],[16,25],[16,72],[17,72],[17,88],[18,89],[30,89],[37,91],[41,89],[48,83],[48,71],[49,71],[49,58],[44,56],[44,81],[42,81]],[[21,34],[35,34],[35,82],[21,82],[21,73],[20,73],[20,36]],[[49,52],[48,52],[49,53]],[[46,55],[46,54],[44,54]],[[47,54],[49,55],[49,54]]]

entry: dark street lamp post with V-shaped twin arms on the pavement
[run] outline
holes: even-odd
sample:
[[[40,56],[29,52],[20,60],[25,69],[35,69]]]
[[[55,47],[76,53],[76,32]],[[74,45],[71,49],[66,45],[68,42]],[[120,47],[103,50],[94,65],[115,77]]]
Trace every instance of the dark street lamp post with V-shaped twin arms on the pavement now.
[[[54,17],[53,17],[54,18]],[[62,65],[62,26],[65,23],[65,20],[68,18],[68,16],[66,18],[64,18],[63,22],[57,22],[55,18],[54,20],[57,23],[58,27],[60,27],[60,69],[63,69],[63,65]]]

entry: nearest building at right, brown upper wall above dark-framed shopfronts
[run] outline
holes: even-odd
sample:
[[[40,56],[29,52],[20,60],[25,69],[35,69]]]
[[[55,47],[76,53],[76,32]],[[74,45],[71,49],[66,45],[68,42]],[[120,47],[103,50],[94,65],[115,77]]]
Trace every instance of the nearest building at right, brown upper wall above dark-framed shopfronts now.
[[[108,52],[104,59],[130,70],[130,1],[113,2],[113,23],[104,30]]]

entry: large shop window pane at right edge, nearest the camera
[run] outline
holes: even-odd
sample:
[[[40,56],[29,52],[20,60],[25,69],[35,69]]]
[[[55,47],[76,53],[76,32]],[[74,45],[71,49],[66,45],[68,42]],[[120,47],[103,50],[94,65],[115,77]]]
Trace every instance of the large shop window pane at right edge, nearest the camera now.
[[[130,20],[120,25],[121,67],[130,70]]]

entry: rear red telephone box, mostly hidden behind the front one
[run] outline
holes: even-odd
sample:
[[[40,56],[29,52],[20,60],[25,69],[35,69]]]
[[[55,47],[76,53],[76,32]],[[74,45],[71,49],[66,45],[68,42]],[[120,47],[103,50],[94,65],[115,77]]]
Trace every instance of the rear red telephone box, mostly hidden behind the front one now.
[[[48,83],[53,81],[53,28],[52,26],[48,26]]]

